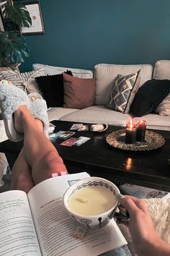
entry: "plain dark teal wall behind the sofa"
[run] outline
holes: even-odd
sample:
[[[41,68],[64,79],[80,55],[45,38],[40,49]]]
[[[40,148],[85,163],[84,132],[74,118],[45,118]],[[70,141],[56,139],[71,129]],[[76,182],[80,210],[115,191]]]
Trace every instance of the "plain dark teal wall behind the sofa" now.
[[[170,59],[170,0],[40,0],[45,34],[26,35],[33,63],[93,69],[98,63]]]

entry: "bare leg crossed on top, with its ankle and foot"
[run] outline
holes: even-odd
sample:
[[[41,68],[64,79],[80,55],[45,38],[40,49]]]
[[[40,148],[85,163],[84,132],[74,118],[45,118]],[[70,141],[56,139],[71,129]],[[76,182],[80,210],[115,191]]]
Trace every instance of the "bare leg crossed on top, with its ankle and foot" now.
[[[23,154],[32,168],[32,180],[35,184],[52,177],[53,173],[67,171],[58,151],[42,133],[42,122],[35,120],[27,106],[21,106],[14,114],[15,128],[24,132]]]

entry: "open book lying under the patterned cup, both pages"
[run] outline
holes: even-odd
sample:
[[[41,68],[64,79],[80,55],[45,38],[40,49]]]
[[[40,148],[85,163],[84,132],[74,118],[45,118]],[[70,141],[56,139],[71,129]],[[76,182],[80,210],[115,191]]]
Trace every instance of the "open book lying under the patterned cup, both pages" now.
[[[0,255],[94,256],[127,244],[114,220],[76,239],[75,221],[63,208],[63,194],[89,174],[47,179],[28,194],[12,190],[0,194]]]

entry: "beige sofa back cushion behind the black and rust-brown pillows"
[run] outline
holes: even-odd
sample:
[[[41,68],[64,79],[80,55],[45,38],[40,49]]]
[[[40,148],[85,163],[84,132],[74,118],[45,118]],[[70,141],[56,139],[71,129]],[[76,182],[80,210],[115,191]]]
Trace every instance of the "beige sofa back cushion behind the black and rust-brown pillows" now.
[[[80,77],[80,78],[93,78],[93,72],[87,69],[73,69],[70,67],[55,67],[55,66],[48,66],[43,64],[33,64],[32,69],[44,69],[45,74],[61,74],[66,72],[67,69],[71,70],[73,77]]]

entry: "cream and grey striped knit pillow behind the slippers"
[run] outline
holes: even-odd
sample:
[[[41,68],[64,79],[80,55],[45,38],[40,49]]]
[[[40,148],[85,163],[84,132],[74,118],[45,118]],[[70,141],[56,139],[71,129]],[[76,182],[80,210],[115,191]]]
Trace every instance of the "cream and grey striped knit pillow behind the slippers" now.
[[[0,74],[2,79],[11,81],[13,85],[18,86],[22,90],[26,90],[27,93],[41,94],[39,88],[37,88],[35,77],[44,75],[45,73],[43,70],[24,72],[24,73],[20,73],[17,70],[15,71],[6,70],[6,71],[1,71]]]

